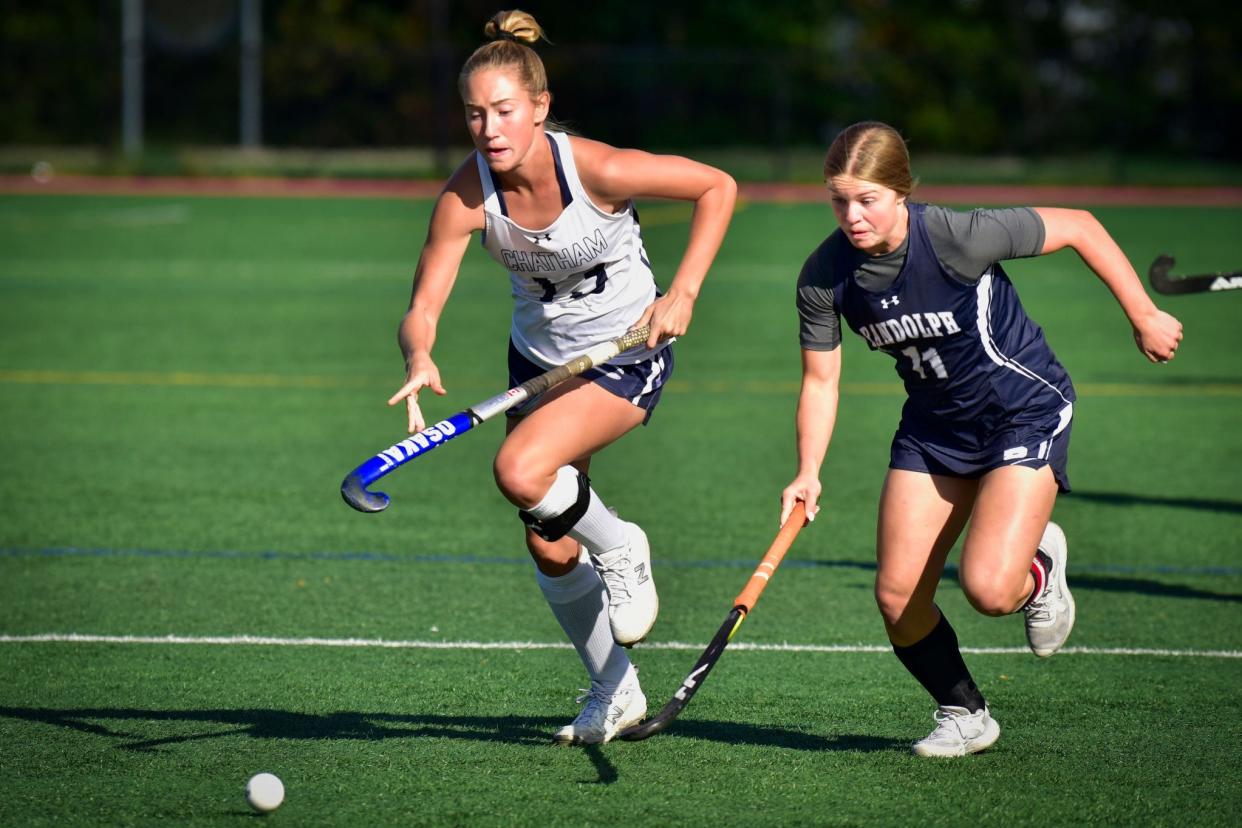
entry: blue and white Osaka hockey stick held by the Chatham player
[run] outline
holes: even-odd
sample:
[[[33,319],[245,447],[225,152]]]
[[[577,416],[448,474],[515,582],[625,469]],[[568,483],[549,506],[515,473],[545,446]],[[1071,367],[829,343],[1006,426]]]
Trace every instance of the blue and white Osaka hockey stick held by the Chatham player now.
[[[366,487],[375,483],[375,480],[405,466],[414,458],[422,457],[432,448],[443,446],[450,439],[465,434],[474,426],[491,420],[496,415],[508,411],[519,402],[525,402],[530,397],[538,396],[570,377],[584,374],[596,365],[602,365],[622,351],[642,345],[647,341],[648,336],[651,336],[651,325],[643,325],[616,339],[600,343],[564,365],[558,365],[550,371],[527,380],[522,385],[474,403],[447,420],[441,420],[430,428],[424,428],[417,434],[394,443],[347,474],[340,484],[340,497],[359,511],[383,511],[388,508],[389,497],[383,492],[366,490]]]

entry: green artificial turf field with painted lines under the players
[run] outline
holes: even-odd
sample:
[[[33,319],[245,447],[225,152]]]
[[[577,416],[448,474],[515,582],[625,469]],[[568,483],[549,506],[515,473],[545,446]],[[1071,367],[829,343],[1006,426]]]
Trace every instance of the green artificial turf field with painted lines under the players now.
[[[1242,295],[1163,298],[1186,340],[1154,366],[1072,253],[1006,266],[1079,391],[1056,511],[1079,614],[1073,649],[1035,659],[950,567],[994,749],[908,752],[932,705],[871,595],[902,394],[857,339],[825,510],[704,690],[648,741],[554,749],[585,675],[492,483],[503,428],[386,478],[383,514],[338,493],[404,431],[384,401],[428,210],[0,197],[0,824],[251,824],[258,771],[284,780],[284,824],[1232,824]],[[1095,212],[1141,272],[1242,259],[1238,210]],[[687,212],[642,215],[667,281]],[[661,618],[633,650],[653,710],[775,533],[792,284],[830,228],[826,205],[746,204],[651,425],[592,466],[655,550]],[[503,387],[508,312],[473,245],[428,417]]]

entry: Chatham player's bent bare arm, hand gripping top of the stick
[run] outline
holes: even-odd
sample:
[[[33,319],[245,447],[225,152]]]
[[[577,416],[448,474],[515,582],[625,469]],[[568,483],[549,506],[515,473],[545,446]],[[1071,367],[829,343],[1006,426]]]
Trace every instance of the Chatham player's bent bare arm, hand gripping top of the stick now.
[[[729,174],[688,158],[652,155],[575,139],[579,174],[592,199],[620,205],[630,199],[656,197],[693,201],[689,240],[668,284],[635,326],[651,324],[648,348],[687,331],[694,302],[733,217],[738,185]]]

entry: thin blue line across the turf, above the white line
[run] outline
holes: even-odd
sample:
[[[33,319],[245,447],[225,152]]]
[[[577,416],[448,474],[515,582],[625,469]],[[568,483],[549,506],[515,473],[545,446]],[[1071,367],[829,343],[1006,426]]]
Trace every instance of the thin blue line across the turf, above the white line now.
[[[486,555],[395,555],[392,552],[282,552],[235,551],[235,550],[179,550],[179,549],[107,549],[82,546],[50,547],[0,547],[0,557],[180,557],[206,560],[256,560],[256,561],[364,561],[384,564],[481,564],[529,566],[528,557],[498,557]],[[754,560],[698,560],[678,561],[660,560],[661,567],[671,569],[754,569]],[[784,569],[852,569],[874,571],[873,561],[850,560],[797,560],[786,559]],[[1223,575],[1242,576],[1242,566],[1172,566],[1164,564],[1086,564],[1074,565],[1076,574],[1102,575]],[[945,566],[945,572],[953,575],[956,565]]]

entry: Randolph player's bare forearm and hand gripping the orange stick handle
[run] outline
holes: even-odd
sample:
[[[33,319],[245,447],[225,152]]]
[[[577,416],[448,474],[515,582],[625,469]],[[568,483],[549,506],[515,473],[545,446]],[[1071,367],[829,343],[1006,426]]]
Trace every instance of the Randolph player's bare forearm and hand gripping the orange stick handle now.
[[[841,389],[841,348],[831,351],[802,350],[802,390],[797,397],[797,477],[780,499],[780,523],[785,524],[794,504],[806,503],[807,520],[818,514],[820,468],[837,422]]]

